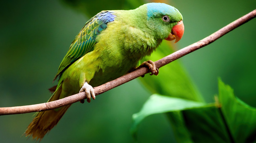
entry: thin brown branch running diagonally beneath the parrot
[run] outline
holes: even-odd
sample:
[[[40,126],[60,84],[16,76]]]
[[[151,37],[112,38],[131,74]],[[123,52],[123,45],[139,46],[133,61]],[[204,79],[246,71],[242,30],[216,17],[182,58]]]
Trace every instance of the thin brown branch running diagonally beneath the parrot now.
[[[256,15],[256,9],[251,11],[250,13],[246,14],[245,16],[237,19],[236,21],[226,25],[225,27],[221,28],[217,32],[213,33],[212,35],[204,38],[203,40],[200,40],[194,44],[191,44],[179,51],[176,51],[172,53],[171,55],[168,55],[166,57],[163,57],[162,59],[156,61],[156,67],[160,68],[182,56],[185,56],[197,49],[200,49],[215,40],[219,39],[223,35],[227,34],[229,31],[237,28],[238,26],[248,22],[249,20],[255,18]],[[144,75],[148,73],[147,68],[140,68],[136,71],[133,71],[131,73],[128,73],[122,77],[119,77],[113,81],[110,81],[108,83],[105,83],[101,86],[94,87],[94,91],[96,95],[99,95],[101,93],[104,93],[112,88],[115,88],[117,86],[120,86],[128,81],[131,81],[141,75]],[[34,104],[34,105],[26,105],[26,106],[16,106],[16,107],[2,107],[0,108],[0,115],[10,115],[10,114],[21,114],[21,113],[30,113],[30,112],[40,112],[40,111],[46,111],[55,109],[58,107],[62,107],[68,104],[72,104],[75,102],[78,102],[80,100],[86,99],[85,92],[81,92],[60,100],[56,100],[53,102],[48,103],[41,103],[41,104]]]

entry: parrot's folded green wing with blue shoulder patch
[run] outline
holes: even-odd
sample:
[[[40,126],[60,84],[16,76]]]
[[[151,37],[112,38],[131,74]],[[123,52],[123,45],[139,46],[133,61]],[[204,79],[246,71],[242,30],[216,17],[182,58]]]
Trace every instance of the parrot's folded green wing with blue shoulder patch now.
[[[93,47],[96,43],[97,35],[106,29],[107,24],[114,21],[114,18],[116,17],[112,13],[113,11],[101,11],[86,22],[84,27],[75,37],[75,40],[72,42],[68,53],[63,58],[53,81],[72,63],[84,56],[86,53],[94,50]]]

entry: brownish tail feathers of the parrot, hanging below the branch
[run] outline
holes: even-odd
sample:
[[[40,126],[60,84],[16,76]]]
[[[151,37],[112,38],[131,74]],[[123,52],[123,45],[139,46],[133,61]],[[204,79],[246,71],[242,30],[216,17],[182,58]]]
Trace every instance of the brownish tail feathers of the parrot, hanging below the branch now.
[[[48,102],[58,100],[61,90],[62,83],[57,87],[56,91],[53,93],[53,96],[49,99]],[[24,133],[26,137],[32,136],[33,139],[39,139],[40,142],[44,135],[58,123],[70,105],[66,105],[53,110],[37,112],[37,115],[29,124],[27,130]]]

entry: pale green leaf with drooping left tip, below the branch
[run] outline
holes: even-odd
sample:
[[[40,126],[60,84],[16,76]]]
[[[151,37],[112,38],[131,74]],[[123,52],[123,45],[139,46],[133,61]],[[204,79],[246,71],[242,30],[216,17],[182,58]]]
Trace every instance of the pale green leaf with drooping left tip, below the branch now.
[[[206,105],[205,103],[153,94],[143,105],[140,112],[133,115],[134,124],[131,128],[131,133],[136,137],[139,123],[149,115],[198,108]]]

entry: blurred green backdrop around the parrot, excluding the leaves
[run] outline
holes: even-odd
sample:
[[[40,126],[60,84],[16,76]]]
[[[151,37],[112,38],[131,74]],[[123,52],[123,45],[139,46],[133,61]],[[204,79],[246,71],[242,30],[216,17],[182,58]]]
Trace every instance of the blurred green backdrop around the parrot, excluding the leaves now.
[[[136,8],[142,3],[75,2],[0,2],[0,107],[46,102],[51,96],[47,89],[53,86],[58,66],[85,22],[101,10]],[[164,2],[183,15],[185,33],[174,45],[177,49],[203,39],[256,8],[255,0]],[[214,102],[220,76],[234,88],[236,96],[256,107],[255,25],[254,19],[180,59],[207,103]],[[133,142],[129,133],[132,114],[150,95],[136,79],[97,96],[92,103],[74,103],[41,142]],[[1,116],[0,142],[34,142],[21,137],[33,114]],[[163,114],[146,118],[139,128],[139,142],[175,142]]]

